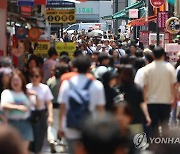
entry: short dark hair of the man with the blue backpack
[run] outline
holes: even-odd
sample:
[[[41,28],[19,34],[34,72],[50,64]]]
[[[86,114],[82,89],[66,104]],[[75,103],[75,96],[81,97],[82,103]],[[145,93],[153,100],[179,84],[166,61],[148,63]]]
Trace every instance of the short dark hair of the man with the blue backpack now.
[[[91,66],[91,59],[88,56],[78,56],[73,61],[73,66],[78,69],[79,73],[87,73]]]

